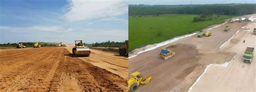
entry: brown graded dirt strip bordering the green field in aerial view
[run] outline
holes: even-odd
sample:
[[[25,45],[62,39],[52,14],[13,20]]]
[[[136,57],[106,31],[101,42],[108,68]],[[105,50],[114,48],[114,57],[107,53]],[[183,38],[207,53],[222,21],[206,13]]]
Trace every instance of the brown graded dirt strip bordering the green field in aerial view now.
[[[248,23],[226,23],[209,29],[212,33],[210,37],[198,38],[193,35],[129,58],[129,75],[138,71],[143,78],[152,76],[152,80],[147,85],[140,85],[137,91],[188,91],[208,64],[222,64],[236,55],[234,52],[220,51],[219,48]],[[231,26],[230,31],[224,32],[225,26]],[[167,47],[176,52],[176,56],[167,60],[159,59],[160,50]]]

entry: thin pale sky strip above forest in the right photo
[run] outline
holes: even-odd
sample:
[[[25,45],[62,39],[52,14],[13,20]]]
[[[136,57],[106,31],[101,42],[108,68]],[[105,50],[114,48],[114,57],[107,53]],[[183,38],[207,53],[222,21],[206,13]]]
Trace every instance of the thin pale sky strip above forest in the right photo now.
[[[150,5],[180,5],[180,4],[225,4],[228,3],[256,3],[256,0],[129,0],[129,4],[150,4]]]

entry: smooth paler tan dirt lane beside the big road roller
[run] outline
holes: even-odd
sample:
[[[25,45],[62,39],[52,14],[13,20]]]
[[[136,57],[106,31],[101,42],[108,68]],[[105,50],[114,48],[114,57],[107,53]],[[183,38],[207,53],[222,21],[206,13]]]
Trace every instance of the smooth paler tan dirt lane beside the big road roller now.
[[[72,48],[75,44],[68,45],[66,49],[72,53]],[[90,49],[89,57],[78,57],[87,63],[104,68],[114,74],[121,76],[124,79],[128,77],[128,58],[119,56],[119,53],[107,52],[101,50]]]

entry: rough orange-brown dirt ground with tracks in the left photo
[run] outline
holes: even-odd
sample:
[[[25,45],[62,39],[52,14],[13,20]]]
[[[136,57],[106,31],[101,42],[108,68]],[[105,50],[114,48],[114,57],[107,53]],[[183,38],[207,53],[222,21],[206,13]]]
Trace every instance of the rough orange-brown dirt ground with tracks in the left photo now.
[[[126,80],[65,48],[0,50],[0,91],[123,91]]]

